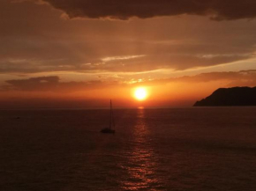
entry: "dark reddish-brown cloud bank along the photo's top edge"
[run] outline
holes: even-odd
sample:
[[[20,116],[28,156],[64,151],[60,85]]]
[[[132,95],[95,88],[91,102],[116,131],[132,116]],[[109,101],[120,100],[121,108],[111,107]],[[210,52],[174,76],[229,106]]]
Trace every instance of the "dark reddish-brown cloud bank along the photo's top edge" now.
[[[254,18],[254,0],[44,0],[70,18],[153,18],[181,14],[211,18]]]

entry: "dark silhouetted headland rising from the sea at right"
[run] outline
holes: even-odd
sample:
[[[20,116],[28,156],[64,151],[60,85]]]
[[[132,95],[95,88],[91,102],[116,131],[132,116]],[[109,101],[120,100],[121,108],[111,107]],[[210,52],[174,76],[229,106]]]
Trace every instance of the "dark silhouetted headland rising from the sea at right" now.
[[[256,87],[220,88],[194,107],[256,106]]]

